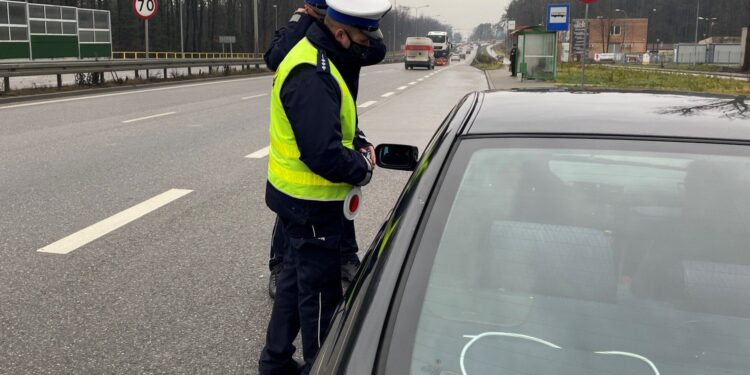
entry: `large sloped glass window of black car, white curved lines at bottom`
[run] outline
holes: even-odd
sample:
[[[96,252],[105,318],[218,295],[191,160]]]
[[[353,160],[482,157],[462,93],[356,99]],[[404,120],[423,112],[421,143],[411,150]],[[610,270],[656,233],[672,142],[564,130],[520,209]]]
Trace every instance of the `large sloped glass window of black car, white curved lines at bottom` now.
[[[411,373],[747,374],[745,149],[463,141],[410,275]]]

